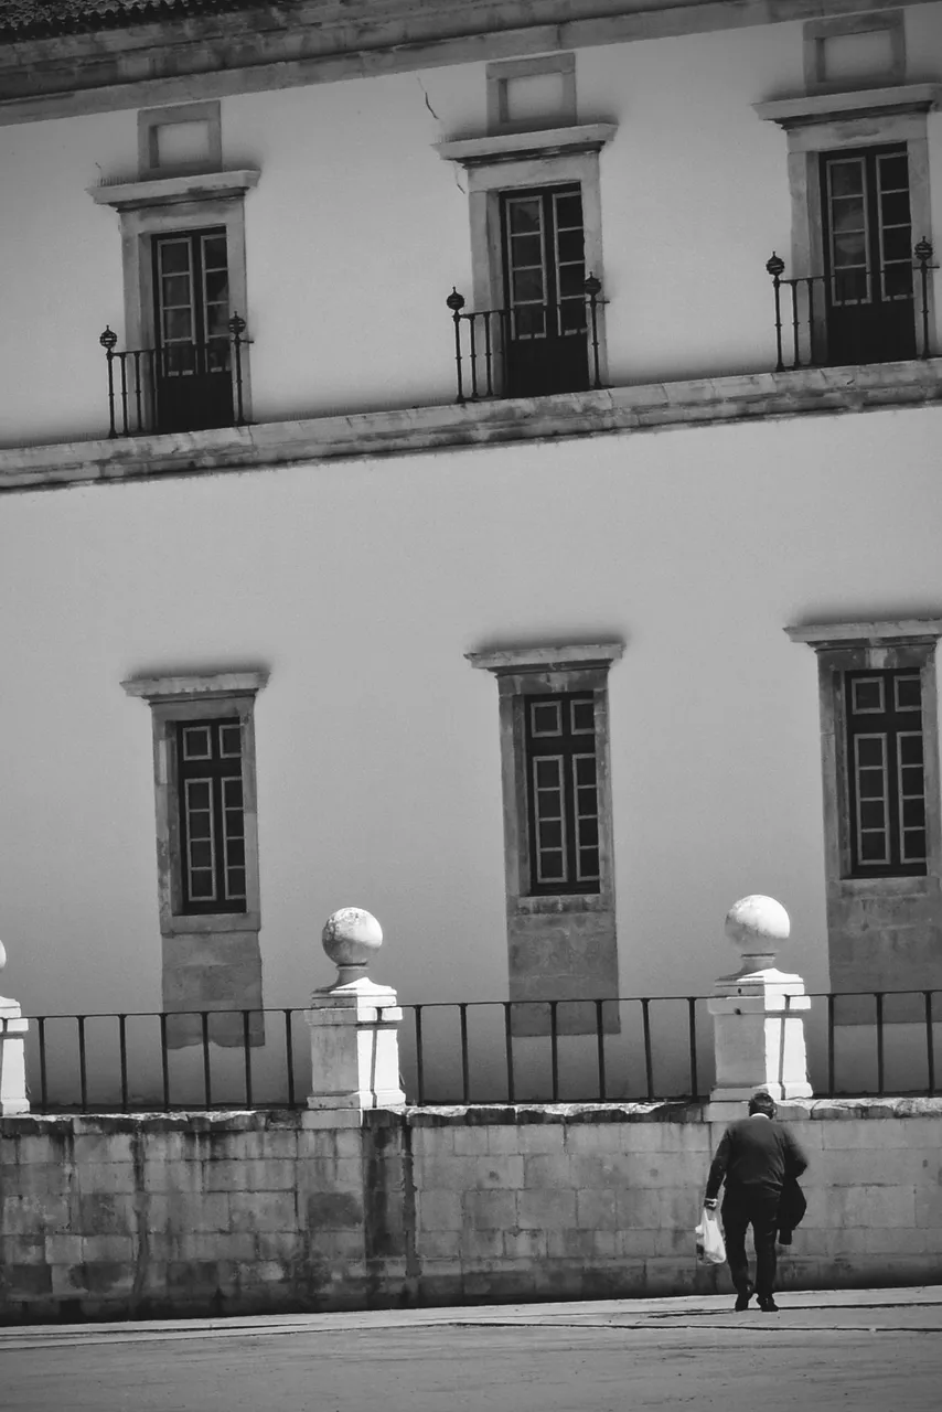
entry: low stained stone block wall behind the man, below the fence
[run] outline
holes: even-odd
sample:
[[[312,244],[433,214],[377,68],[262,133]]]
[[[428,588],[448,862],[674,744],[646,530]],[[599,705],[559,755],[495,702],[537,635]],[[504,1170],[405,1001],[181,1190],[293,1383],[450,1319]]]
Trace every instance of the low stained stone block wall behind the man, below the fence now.
[[[789,1106],[782,1288],[942,1281],[942,1100]],[[699,1104],[0,1120],[0,1320],[729,1289]]]

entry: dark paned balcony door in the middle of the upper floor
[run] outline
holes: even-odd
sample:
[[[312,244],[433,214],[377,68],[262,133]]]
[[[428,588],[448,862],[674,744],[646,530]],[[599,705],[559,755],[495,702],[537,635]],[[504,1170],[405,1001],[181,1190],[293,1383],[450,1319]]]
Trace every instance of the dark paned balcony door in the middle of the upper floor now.
[[[588,388],[580,188],[506,192],[500,216],[506,395]]]

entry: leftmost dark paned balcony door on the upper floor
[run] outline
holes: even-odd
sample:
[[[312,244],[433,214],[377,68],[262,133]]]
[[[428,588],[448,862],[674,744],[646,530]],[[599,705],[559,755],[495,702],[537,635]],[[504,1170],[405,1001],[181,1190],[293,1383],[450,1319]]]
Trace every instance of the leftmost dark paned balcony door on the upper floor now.
[[[233,421],[225,230],[154,237],[158,431]]]

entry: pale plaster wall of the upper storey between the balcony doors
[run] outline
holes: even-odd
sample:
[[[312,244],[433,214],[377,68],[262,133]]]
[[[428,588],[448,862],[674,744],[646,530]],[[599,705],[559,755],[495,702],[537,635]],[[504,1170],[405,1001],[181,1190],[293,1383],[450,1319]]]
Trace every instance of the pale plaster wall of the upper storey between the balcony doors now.
[[[907,11],[914,76],[942,76],[942,6]],[[765,260],[789,250],[785,136],[753,103],[799,93],[801,25],[576,55],[602,154],[610,380],[774,364]],[[917,72],[918,71],[918,72]],[[484,128],[484,65],[223,99],[246,199],[254,417],[451,401],[445,298],[470,298],[465,174],[434,144]],[[931,119],[942,230],[942,114]],[[107,429],[97,336],[123,335],[117,216],[85,188],[134,171],[134,112],[0,128],[0,445]],[[921,234],[921,233],[919,233]],[[936,237],[936,244],[942,243]],[[942,298],[938,301],[942,304]]]

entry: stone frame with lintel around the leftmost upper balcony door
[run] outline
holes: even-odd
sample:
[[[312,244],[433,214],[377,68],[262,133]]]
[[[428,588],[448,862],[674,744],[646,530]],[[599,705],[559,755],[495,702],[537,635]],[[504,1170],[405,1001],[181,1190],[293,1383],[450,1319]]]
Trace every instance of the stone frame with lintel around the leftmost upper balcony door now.
[[[260,175],[257,168],[240,168],[89,188],[89,195],[97,206],[110,206],[120,217],[126,349],[155,346],[151,256],[155,236],[223,227],[229,267],[229,309],[249,322],[244,198],[257,185]],[[244,336],[240,366],[244,422],[251,422],[249,343],[249,336]],[[150,405],[145,414],[151,418]]]

